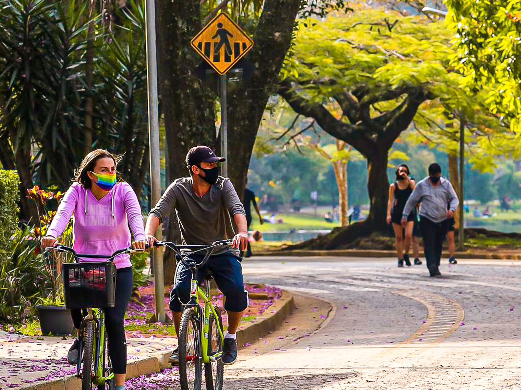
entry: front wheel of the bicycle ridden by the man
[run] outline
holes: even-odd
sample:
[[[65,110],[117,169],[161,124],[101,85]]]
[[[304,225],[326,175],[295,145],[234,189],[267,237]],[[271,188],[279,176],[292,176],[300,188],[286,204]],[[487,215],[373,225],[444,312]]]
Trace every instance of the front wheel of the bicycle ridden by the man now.
[[[183,311],[179,326],[179,380],[181,390],[200,390],[202,361],[199,358],[200,331],[193,307]]]

